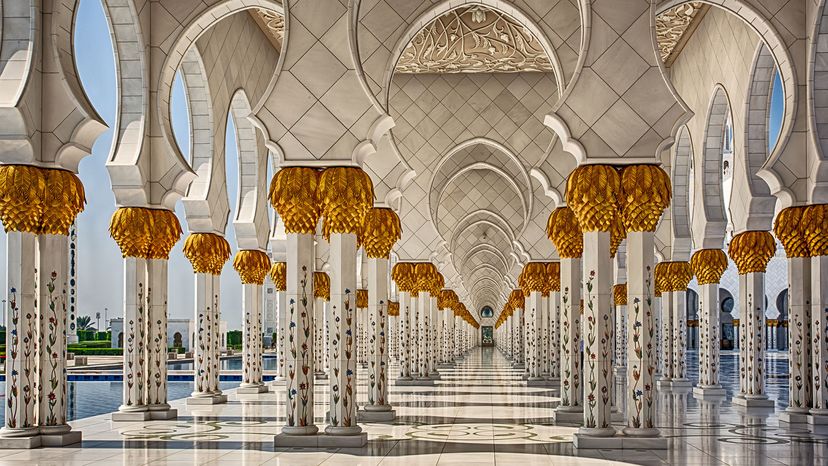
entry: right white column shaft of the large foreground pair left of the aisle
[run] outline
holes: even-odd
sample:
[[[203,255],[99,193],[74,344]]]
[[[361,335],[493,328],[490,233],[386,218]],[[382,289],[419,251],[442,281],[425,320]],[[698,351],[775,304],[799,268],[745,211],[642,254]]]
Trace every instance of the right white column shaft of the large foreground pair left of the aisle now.
[[[353,233],[331,233],[331,346],[329,435],[360,435],[357,424],[356,253]],[[367,441],[367,439],[366,439]]]

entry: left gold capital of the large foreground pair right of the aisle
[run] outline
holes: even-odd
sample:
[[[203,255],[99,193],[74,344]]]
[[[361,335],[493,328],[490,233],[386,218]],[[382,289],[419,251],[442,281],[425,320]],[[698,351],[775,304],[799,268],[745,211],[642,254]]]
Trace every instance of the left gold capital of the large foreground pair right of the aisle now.
[[[581,231],[610,231],[619,215],[621,177],[611,165],[581,165],[566,180],[566,203]]]

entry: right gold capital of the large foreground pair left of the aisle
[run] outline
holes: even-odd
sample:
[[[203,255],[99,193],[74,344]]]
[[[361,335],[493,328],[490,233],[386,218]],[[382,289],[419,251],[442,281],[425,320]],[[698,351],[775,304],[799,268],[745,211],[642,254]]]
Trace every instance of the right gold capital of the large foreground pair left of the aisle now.
[[[330,167],[319,176],[316,198],[322,207],[322,233],[358,234],[365,214],[374,205],[371,177],[356,167]]]

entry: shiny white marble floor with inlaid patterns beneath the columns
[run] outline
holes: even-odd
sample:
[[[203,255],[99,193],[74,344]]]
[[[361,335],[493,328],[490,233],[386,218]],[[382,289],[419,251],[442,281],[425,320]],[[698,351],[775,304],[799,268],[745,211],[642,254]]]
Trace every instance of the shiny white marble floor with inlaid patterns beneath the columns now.
[[[284,422],[281,390],[258,396],[230,392],[226,405],[194,408],[183,400],[173,402],[180,413],[175,421],[114,424],[108,415],[73,421],[83,431],[82,445],[0,451],[0,466],[828,464],[828,428],[781,428],[770,410],[746,412],[728,401],[702,403],[689,390],[659,393],[658,427],[669,439],[669,450],[575,450],[577,427],[552,425],[555,391],[525,387],[520,372],[496,349],[476,349],[441,372],[434,387],[392,385],[397,420],[364,424],[365,448],[276,449],[273,436]],[[315,396],[318,402],[327,399],[325,382],[317,385]],[[320,427],[322,415],[320,403]]]

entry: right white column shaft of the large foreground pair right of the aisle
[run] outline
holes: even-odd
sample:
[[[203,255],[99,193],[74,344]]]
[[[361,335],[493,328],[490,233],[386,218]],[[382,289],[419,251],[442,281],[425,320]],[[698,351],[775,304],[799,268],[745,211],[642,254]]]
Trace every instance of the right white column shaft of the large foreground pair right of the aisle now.
[[[654,234],[630,231],[627,234],[627,316],[626,403],[627,426],[624,433],[634,437],[655,437],[655,287]]]

